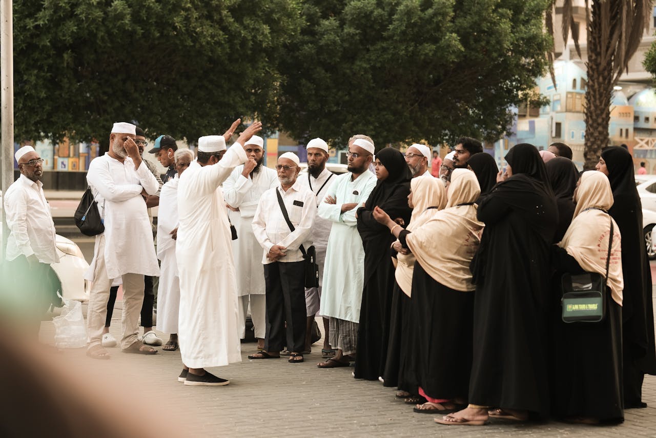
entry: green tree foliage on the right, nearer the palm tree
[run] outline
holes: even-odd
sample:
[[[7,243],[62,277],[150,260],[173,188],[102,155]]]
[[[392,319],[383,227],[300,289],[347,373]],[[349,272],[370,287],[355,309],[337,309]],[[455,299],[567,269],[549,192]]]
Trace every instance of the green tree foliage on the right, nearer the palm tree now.
[[[549,0],[306,0],[281,60],[279,122],[293,137],[379,146],[499,139],[535,100]]]

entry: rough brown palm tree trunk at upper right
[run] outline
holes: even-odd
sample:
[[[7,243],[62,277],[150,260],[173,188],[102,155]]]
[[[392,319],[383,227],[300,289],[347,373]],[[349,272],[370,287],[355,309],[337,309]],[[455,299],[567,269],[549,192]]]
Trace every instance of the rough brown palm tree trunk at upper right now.
[[[600,2],[592,2],[592,20],[588,23],[588,87],[585,92],[584,169],[594,169],[602,148],[608,146],[608,125],[613,94],[613,56],[602,63],[602,20]]]

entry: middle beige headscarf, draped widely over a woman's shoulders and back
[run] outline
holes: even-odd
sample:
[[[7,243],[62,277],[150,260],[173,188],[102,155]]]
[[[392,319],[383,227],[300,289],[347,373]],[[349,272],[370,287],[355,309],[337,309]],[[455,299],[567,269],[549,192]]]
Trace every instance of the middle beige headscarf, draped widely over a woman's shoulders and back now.
[[[476,219],[477,206],[473,204],[480,192],[474,172],[455,169],[451,173],[447,208],[438,211],[405,239],[424,271],[447,288],[463,292],[475,289],[469,264],[484,227]]]

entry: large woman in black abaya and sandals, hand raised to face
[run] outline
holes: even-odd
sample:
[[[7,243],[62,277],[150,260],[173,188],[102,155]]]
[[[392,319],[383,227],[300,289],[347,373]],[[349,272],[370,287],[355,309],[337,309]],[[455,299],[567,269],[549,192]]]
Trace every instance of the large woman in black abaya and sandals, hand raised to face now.
[[[486,244],[472,260],[470,405],[436,418],[441,424],[478,426],[490,416],[526,420],[529,412],[546,417],[550,408],[545,350],[558,208],[535,146],[514,146],[506,162],[507,177],[499,175],[478,207]]]

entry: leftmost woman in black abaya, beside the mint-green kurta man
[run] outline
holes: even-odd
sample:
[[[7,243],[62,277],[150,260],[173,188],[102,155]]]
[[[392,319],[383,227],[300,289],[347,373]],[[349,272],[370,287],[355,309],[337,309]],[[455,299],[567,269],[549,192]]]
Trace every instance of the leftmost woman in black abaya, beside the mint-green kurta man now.
[[[403,154],[384,148],[376,154],[378,183],[364,207],[358,209],[358,231],[365,250],[365,278],[358,326],[356,379],[378,380],[387,357],[394,265],[392,243],[396,238],[374,219],[372,211],[380,207],[399,227],[407,225],[412,213],[408,206],[410,170]]]

